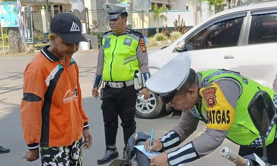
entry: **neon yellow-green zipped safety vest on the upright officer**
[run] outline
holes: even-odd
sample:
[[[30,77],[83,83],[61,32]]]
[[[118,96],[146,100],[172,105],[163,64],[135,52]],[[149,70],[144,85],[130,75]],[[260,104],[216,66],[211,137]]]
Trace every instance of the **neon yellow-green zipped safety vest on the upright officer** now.
[[[129,29],[127,29],[128,31]],[[104,52],[103,80],[128,81],[139,70],[137,47],[142,34],[133,30],[120,35],[112,31],[104,33],[102,48]]]

